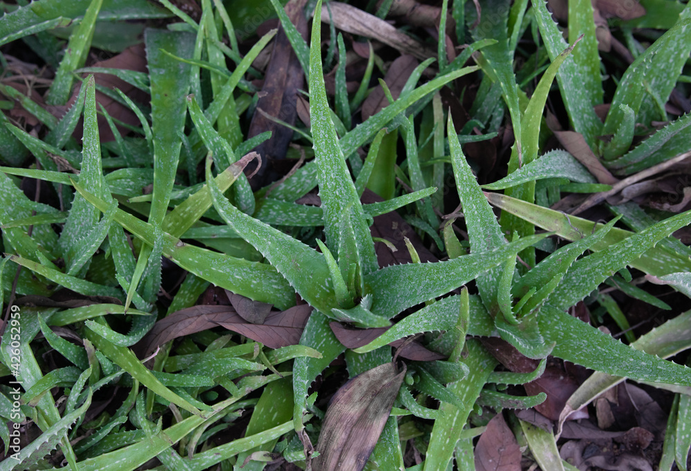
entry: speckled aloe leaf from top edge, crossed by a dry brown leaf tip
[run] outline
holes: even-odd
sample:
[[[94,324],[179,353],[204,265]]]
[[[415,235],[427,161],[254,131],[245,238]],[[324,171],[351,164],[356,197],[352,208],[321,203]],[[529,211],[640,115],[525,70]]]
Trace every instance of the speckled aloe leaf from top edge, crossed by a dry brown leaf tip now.
[[[545,0],[531,0],[533,12],[540,28],[540,35],[545,41],[545,47],[549,54],[549,59],[554,59],[569,46],[556,23],[552,20],[551,13],[547,10]],[[591,55],[590,48],[587,48],[583,55]],[[589,79],[590,70],[585,64],[577,63],[574,58],[567,58],[557,73],[559,90],[568,110],[569,119],[574,129],[583,134],[585,142],[590,148],[596,148],[596,137],[602,134],[602,122],[595,115],[593,104],[598,102],[601,90],[596,87],[584,88],[583,84],[591,84]]]

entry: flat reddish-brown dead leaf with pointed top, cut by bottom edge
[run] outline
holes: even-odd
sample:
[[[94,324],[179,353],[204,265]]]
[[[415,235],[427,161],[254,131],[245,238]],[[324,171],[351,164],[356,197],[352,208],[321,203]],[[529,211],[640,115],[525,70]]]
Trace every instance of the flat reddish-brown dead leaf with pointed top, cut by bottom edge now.
[[[475,447],[475,470],[520,471],[521,452],[502,414],[495,415]]]

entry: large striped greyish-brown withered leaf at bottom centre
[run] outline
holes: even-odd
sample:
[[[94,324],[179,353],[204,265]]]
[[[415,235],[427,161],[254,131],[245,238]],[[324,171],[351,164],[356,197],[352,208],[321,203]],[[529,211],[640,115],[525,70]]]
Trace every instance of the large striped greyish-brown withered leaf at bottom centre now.
[[[326,411],[314,471],[362,470],[374,450],[406,374],[385,363],[359,374],[334,394]]]

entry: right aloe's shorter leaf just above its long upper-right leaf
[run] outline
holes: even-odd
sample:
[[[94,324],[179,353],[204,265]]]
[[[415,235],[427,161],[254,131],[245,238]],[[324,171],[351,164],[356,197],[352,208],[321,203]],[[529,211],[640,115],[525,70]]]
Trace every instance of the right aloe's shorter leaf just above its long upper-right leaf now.
[[[533,269],[528,271],[528,273],[522,276],[520,280],[513,285],[513,293],[518,296],[523,296],[531,287],[545,286],[556,276],[567,273],[567,270],[573,265],[574,260],[576,260],[578,256],[582,255],[594,244],[598,244],[605,240],[605,237],[609,231],[612,230],[617,220],[618,219],[614,219],[601,229],[598,229],[598,231],[595,231],[595,233],[586,235],[580,240],[571,242],[571,244],[567,244],[549,254],[547,258],[540,261],[538,265],[533,267]]]

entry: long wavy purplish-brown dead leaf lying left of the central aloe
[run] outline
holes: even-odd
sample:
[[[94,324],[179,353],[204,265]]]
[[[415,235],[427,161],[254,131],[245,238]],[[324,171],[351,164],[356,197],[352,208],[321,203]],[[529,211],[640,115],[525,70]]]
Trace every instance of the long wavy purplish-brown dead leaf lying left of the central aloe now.
[[[214,327],[225,327],[269,348],[296,345],[312,312],[309,305],[299,305],[285,311],[274,311],[263,324],[248,323],[231,306],[199,305],[180,309],[159,320],[146,337],[135,345],[138,353],[149,356],[157,347],[174,338],[194,334]]]

